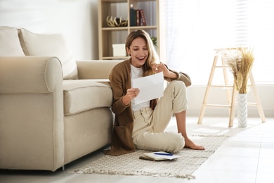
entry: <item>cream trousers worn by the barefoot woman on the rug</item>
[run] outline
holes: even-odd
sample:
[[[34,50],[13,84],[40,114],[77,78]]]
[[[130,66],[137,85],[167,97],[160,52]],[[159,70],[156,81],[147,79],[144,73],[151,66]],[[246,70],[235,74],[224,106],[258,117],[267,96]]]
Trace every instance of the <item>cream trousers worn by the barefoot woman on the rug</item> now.
[[[133,143],[136,149],[176,153],[183,149],[185,140],[181,133],[164,132],[174,113],[188,108],[185,84],[172,81],[164,90],[155,110],[142,108],[133,113]]]

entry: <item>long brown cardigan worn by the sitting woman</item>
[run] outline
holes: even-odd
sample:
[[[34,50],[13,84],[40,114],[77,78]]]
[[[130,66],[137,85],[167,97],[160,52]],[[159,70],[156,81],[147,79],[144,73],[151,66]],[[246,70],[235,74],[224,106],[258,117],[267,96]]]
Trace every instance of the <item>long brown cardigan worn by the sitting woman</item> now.
[[[119,156],[125,153],[135,151],[135,146],[131,137],[133,130],[133,115],[131,111],[131,103],[125,106],[122,98],[126,94],[126,90],[131,88],[131,58],[115,65],[110,73],[110,85],[113,92],[112,112],[115,113],[115,125],[112,132],[111,149],[105,151],[105,154]],[[167,65],[166,65],[167,66]],[[181,80],[185,82],[185,86],[191,85],[190,77],[183,72],[176,72],[178,76],[175,79],[164,77],[164,80]],[[150,101],[152,109],[157,105],[157,99]]]

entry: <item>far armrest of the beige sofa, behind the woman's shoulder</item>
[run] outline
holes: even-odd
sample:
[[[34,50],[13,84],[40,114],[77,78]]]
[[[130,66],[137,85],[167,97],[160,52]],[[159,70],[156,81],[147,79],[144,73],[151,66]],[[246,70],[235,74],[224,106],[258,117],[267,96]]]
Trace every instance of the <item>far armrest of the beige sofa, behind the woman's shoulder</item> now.
[[[112,68],[121,61],[77,61],[79,80],[108,79]]]

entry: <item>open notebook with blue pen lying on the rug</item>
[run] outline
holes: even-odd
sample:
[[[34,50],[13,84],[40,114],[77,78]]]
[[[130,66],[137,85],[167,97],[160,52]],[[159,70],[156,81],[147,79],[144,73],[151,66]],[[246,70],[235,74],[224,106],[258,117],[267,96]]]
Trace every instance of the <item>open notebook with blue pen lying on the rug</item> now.
[[[153,153],[143,153],[143,155],[141,155],[139,158],[143,160],[158,161],[158,160],[174,160],[179,157],[181,156],[174,155],[172,153],[167,153],[164,151],[158,151]]]

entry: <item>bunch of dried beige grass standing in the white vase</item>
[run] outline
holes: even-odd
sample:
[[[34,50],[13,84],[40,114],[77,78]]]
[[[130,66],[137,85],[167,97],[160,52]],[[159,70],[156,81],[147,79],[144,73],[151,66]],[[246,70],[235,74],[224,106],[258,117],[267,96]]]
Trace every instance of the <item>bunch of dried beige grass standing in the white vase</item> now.
[[[233,73],[236,90],[239,94],[247,94],[249,72],[254,63],[253,50],[249,48],[221,50],[225,63]]]

